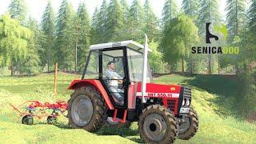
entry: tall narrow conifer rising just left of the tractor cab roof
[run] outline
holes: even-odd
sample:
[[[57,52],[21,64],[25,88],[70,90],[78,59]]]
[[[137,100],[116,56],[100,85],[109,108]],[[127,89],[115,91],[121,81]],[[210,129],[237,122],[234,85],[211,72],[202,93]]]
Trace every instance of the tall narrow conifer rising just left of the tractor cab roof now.
[[[89,52],[90,46],[90,16],[86,9],[86,3],[81,2],[78,6],[77,11],[78,19],[77,19],[77,62],[78,70],[82,70],[84,68],[86,58]],[[76,69],[75,69],[76,70]]]

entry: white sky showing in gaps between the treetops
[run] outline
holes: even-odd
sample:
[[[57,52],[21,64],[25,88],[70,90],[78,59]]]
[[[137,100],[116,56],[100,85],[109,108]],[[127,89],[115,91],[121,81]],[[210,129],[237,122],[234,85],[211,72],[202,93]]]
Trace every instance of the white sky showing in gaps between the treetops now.
[[[41,21],[43,10],[46,8],[46,3],[48,0],[25,0],[26,5],[29,11],[29,14],[32,18]],[[133,0],[127,0],[128,4],[130,5]],[[145,0],[140,0],[142,5]],[[5,14],[8,10],[8,6],[10,5],[11,0],[0,0],[0,14]],[[55,13],[58,12],[58,7],[60,6],[62,0],[51,0],[52,5],[54,6]],[[74,9],[77,10],[79,2],[81,0],[70,0]],[[92,16],[94,14],[95,7],[100,7],[102,4],[102,0],[85,0],[86,7]],[[109,0],[107,0],[109,2]],[[150,0],[151,6],[154,8],[154,13],[161,18],[162,15],[162,7],[164,5],[165,0]],[[182,0],[177,0],[178,6],[181,7]],[[222,14],[222,18],[225,16],[225,4],[226,0],[220,0],[219,11]]]

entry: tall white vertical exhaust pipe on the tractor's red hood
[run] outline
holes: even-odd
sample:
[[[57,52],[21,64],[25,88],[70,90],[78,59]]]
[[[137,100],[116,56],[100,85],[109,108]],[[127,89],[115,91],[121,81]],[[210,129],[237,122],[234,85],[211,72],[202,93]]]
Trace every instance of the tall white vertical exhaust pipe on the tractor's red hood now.
[[[142,103],[146,103],[145,94],[146,94],[146,73],[147,73],[147,35],[145,34],[145,44],[144,44],[144,53],[143,53],[143,69],[142,69]]]

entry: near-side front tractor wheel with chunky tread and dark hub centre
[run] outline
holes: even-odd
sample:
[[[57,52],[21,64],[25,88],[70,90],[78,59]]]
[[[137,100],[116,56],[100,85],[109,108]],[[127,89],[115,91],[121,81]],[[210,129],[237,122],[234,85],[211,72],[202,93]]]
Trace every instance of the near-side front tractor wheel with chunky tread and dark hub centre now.
[[[146,143],[173,143],[177,134],[176,118],[165,106],[147,106],[139,116],[138,130]]]

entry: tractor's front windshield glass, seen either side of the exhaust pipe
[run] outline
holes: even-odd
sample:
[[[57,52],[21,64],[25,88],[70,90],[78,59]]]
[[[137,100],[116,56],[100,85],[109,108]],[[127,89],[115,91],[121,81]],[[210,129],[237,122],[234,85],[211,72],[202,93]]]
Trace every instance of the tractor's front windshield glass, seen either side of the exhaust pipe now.
[[[127,48],[127,59],[129,66],[130,82],[142,82],[143,54]],[[153,82],[149,66],[146,75],[146,82]]]

